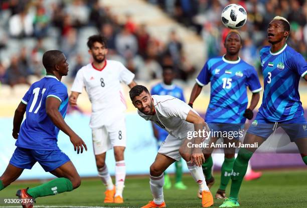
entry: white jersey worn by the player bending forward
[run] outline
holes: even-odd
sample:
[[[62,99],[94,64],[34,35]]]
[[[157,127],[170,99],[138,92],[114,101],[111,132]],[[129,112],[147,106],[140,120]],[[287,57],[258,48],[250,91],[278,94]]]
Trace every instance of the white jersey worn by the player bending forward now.
[[[176,138],[187,138],[188,131],[194,131],[194,124],[186,119],[190,110],[197,112],[187,103],[171,95],[152,95],[152,98],[154,99],[155,114],[145,115],[137,110],[141,117],[154,121]]]

